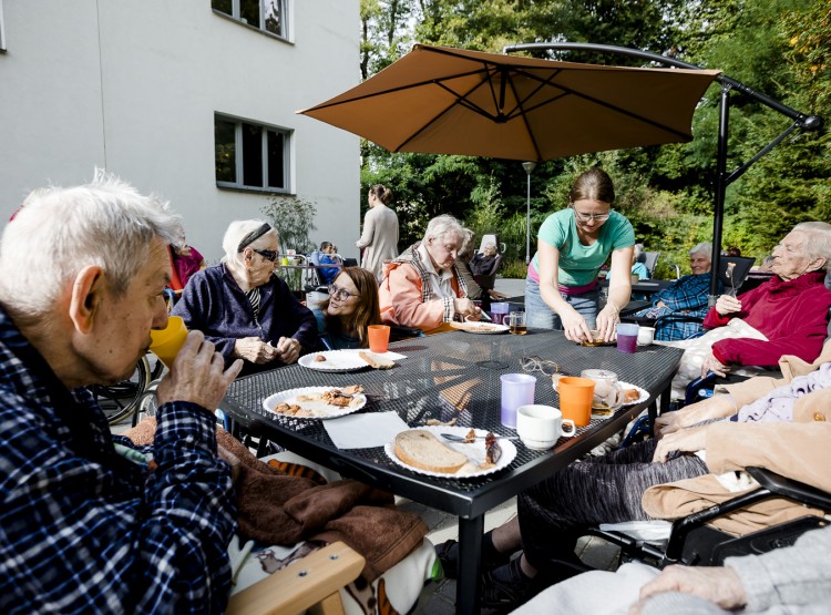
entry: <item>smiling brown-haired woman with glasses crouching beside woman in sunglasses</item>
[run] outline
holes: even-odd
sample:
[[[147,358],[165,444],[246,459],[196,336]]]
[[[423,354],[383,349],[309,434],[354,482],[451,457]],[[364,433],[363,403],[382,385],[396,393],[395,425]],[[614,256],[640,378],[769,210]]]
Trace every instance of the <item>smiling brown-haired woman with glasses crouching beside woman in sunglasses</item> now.
[[[375,275],[360,267],[347,267],[329,285],[329,299],[312,311],[320,341],[328,350],[367,348],[367,328],[381,324]]]

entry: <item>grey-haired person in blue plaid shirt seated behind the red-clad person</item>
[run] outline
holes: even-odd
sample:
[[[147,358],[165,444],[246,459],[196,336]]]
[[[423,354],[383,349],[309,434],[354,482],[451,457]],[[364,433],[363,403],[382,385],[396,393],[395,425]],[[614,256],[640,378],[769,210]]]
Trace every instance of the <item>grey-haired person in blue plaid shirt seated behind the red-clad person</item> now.
[[[670,314],[684,314],[689,320],[669,319],[655,329],[655,339],[673,341],[687,339],[701,331],[696,318],[707,315],[707,297],[710,293],[710,267],[712,266],[712,244],[700,243],[689,250],[689,268],[693,274],[684,276],[664,290],[653,296],[653,305],[644,308],[636,317],[660,318]],[[719,280],[719,286],[721,281]]]

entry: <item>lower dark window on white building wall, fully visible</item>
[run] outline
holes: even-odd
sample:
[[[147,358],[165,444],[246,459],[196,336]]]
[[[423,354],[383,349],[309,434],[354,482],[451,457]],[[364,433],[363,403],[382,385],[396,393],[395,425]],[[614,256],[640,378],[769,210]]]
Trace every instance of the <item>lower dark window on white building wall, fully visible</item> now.
[[[288,193],[290,131],[214,116],[216,185]]]

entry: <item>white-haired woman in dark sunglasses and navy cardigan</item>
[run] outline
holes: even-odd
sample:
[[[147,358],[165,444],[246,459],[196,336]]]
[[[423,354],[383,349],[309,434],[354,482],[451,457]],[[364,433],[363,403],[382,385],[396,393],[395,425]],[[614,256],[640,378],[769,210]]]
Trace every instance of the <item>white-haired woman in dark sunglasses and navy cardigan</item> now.
[[[277,232],[259,219],[235,221],[223,238],[222,264],[197,271],[173,308],[205,334],[243,375],[294,363],[318,346],[312,312],[274,275]]]

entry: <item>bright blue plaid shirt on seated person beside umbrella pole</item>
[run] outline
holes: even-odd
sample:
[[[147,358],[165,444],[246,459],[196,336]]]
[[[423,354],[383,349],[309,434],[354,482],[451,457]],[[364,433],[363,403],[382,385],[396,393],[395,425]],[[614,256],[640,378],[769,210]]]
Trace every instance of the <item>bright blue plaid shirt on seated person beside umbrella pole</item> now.
[[[720,285],[720,283],[719,283]],[[684,314],[704,320],[707,315],[707,296],[710,293],[710,274],[684,276],[653,296],[653,306],[635,316],[660,318],[669,314]],[[664,303],[666,307],[657,307]],[[655,328],[655,339],[675,341],[698,337],[704,332],[701,321],[665,320]]]

